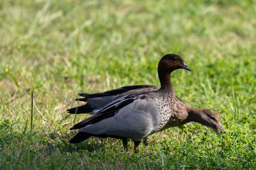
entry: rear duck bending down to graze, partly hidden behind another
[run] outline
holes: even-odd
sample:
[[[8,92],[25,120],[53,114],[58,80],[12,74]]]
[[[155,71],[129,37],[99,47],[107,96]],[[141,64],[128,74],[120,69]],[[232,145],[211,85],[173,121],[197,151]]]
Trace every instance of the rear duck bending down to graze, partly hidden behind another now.
[[[132,85],[132,86],[125,86],[125,87],[119,87],[117,89],[108,90],[106,92],[97,93],[97,94],[79,94],[79,96],[85,97],[81,99],[76,99],[77,101],[86,101],[87,103],[78,106],[75,108],[71,108],[68,111],[70,114],[81,114],[81,113],[88,113],[88,114],[94,114],[95,112],[99,111],[100,108],[103,108],[107,104],[115,101],[116,99],[119,99],[120,97],[129,96],[131,94],[140,94],[144,92],[153,92],[159,90],[159,87],[156,87],[154,85]],[[179,103],[177,105],[183,105],[182,107],[185,107],[188,111],[188,117],[186,120],[184,120],[182,123],[173,125],[172,118],[168,123],[161,129],[163,131],[164,129],[168,129],[170,127],[175,127],[178,125],[184,125],[189,122],[197,122],[202,125],[205,125],[207,127],[210,127],[216,132],[216,134],[220,137],[221,131],[226,132],[226,130],[223,128],[223,126],[220,124],[220,117],[214,113],[211,110],[208,109],[199,109],[199,108],[193,108],[189,104],[186,104],[180,97],[175,96],[175,103]],[[124,147],[127,145],[127,139],[122,139]],[[148,146],[147,138],[143,139],[143,144],[145,146]]]

